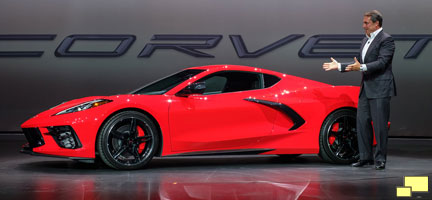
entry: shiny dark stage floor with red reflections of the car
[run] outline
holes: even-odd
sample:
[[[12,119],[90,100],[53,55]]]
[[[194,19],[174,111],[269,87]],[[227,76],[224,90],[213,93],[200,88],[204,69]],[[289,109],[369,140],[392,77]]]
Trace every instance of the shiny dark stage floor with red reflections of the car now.
[[[407,199],[404,176],[428,176],[432,139],[389,139],[385,170],[323,162],[316,155],[176,157],[117,171],[96,164],[19,153],[23,135],[0,134],[0,199]]]

